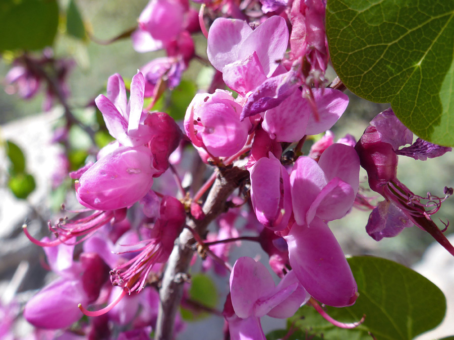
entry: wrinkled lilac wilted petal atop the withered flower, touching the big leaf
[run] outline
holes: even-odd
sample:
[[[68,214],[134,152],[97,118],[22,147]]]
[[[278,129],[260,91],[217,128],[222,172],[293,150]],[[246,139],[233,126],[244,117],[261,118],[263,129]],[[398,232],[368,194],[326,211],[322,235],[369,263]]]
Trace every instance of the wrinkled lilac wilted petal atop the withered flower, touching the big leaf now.
[[[391,108],[377,114],[370,124],[377,129],[380,141],[392,145],[394,150],[413,142],[413,132],[394,115]]]

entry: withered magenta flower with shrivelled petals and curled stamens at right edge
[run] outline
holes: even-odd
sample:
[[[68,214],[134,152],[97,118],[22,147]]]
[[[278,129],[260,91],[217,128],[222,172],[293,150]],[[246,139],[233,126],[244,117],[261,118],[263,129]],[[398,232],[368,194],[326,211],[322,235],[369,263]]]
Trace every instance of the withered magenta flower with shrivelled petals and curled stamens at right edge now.
[[[397,178],[398,154],[415,159],[441,156],[450,148],[441,147],[422,140],[399,150],[400,146],[411,143],[413,135],[388,109],[375,117],[355,146],[366,169],[369,186],[381,194],[386,202],[375,208],[366,226],[375,240],[398,235],[405,227],[413,224],[431,234],[435,240],[454,255],[454,247],[430,218],[441,206],[441,202],[452,194],[452,188],[445,187],[445,197],[428,193],[427,197],[414,194]]]

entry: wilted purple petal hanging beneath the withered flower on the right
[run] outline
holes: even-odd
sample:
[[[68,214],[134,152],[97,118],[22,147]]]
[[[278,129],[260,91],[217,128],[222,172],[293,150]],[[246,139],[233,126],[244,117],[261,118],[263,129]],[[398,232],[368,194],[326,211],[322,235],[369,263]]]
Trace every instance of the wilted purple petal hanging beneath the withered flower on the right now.
[[[412,226],[413,222],[399,207],[384,200],[370,213],[366,231],[375,241],[380,241],[383,237],[394,237],[404,228]]]

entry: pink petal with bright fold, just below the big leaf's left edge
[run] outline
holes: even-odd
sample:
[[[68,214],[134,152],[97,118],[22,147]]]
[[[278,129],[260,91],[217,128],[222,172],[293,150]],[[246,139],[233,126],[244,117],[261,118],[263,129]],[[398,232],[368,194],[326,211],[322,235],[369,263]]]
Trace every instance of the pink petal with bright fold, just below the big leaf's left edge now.
[[[328,88],[312,89],[312,93],[318,114],[316,116],[312,112],[309,115],[306,134],[319,134],[330,129],[342,116],[349,104],[349,97],[342,91]],[[318,121],[316,117],[318,117]]]

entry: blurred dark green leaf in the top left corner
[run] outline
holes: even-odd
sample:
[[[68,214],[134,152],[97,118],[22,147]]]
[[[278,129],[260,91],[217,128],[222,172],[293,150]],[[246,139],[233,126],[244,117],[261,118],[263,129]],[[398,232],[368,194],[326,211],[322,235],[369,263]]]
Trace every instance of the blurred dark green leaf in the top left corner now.
[[[56,0],[3,0],[0,2],[0,51],[50,46],[58,23]]]

